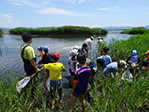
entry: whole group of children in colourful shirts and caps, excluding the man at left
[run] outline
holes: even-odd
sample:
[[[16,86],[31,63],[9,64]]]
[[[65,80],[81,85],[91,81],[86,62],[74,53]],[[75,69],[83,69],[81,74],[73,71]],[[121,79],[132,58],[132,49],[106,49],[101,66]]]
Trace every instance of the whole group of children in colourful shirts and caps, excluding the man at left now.
[[[93,39],[93,38],[92,38]],[[103,47],[102,55],[97,58],[96,64],[95,62],[90,61],[87,58],[87,44],[83,43],[81,48],[78,46],[74,46],[74,48],[70,51],[70,58],[68,60],[69,64],[69,87],[71,89],[72,94],[72,108],[75,111],[75,103],[76,99],[79,97],[80,102],[82,104],[82,111],[85,111],[86,103],[84,101],[84,96],[87,91],[87,85],[90,82],[93,84],[94,75],[96,73],[96,65],[98,68],[101,68],[105,77],[114,77],[114,75],[118,72],[119,68],[127,68],[130,67],[130,72],[134,75],[134,69],[136,69],[136,77],[139,76],[139,63],[140,58],[137,55],[137,50],[131,51],[131,56],[128,57],[127,61],[120,60],[119,62],[112,62],[111,57],[108,55],[109,48]],[[100,47],[100,46],[99,46]],[[40,47],[39,47],[40,48]],[[40,51],[40,49],[38,49]],[[42,58],[39,63],[43,63],[44,68],[48,70],[49,78],[50,78],[50,93],[51,93],[51,108],[54,109],[54,97],[56,88],[59,93],[59,100],[62,99],[62,75],[61,71],[66,71],[64,65],[59,63],[60,54],[58,52],[54,52],[52,54],[48,53],[48,47],[43,47],[43,51],[40,51]],[[149,68],[149,52],[146,53],[147,59],[143,62],[143,66]],[[89,61],[88,61],[89,60]],[[128,64],[127,64],[128,63]]]

